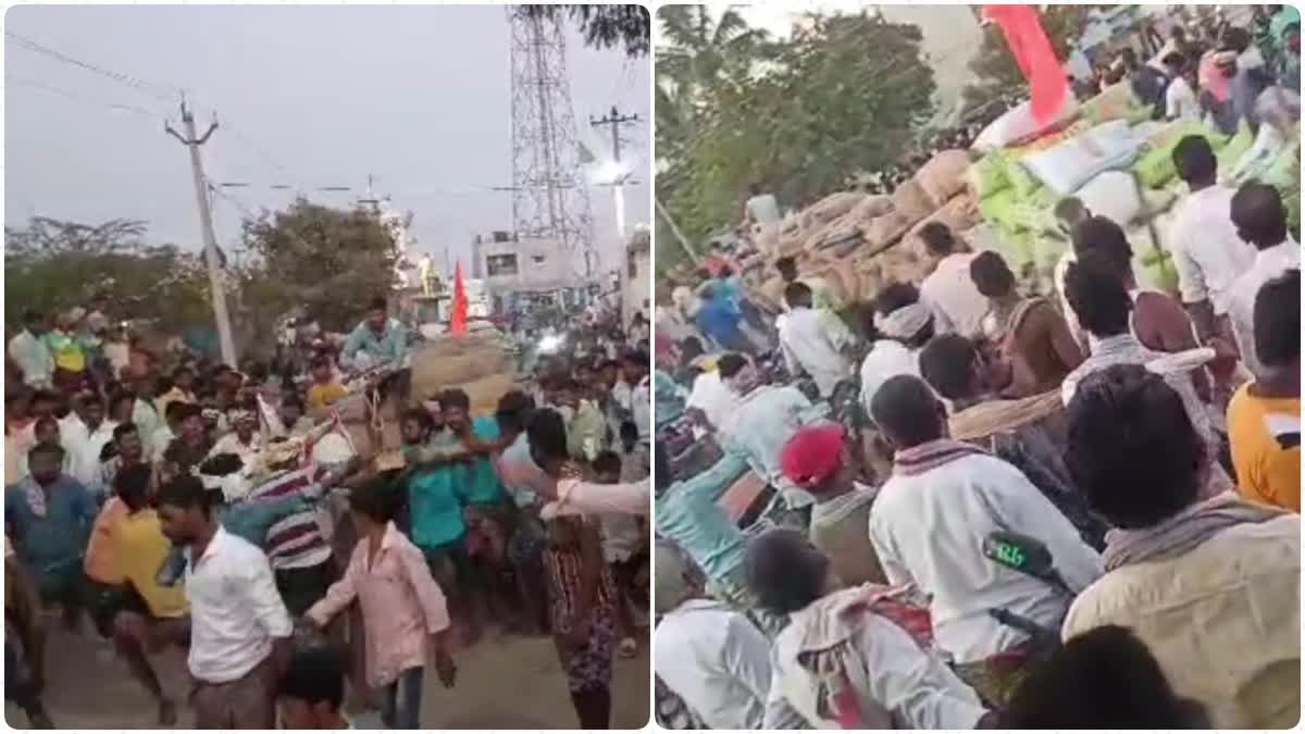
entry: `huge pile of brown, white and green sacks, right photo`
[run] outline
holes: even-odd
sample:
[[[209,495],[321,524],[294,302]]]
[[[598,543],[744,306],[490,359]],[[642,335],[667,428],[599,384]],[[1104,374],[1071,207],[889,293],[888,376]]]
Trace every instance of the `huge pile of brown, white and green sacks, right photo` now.
[[[1266,120],[1276,115],[1298,131],[1298,95],[1270,89],[1258,108]],[[1034,121],[1028,103],[1018,104],[992,121],[971,150],[937,153],[891,196],[838,192],[758,232],[761,259],[745,266],[744,285],[778,307],[783,282],[774,264],[787,256],[803,278],[823,281],[835,307],[867,303],[886,282],[919,283],[932,272],[934,259],[917,235],[938,221],[972,248],[998,251],[1024,290],[1047,294],[1069,247],[1053,210],[1074,196],[1125,229],[1142,285],[1174,291],[1177,273],[1163,238],[1171,210],[1188,193],[1173,149],[1190,135],[1210,141],[1225,183],[1255,178],[1278,187],[1298,234],[1298,132],[1284,136],[1265,124],[1251,136],[1244,123],[1237,135],[1225,136],[1201,121],[1152,116],[1128,82],[1083,103],[1067,99],[1043,124]]]

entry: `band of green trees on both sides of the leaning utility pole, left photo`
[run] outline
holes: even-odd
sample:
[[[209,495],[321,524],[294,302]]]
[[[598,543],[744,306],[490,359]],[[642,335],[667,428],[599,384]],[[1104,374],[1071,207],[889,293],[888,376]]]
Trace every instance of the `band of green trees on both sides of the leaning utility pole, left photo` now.
[[[33,218],[5,229],[5,327],[26,310],[44,315],[98,307],[114,319],[150,321],[180,334],[213,327],[204,259],[175,246],[145,244],[145,222],[103,225]],[[274,342],[278,317],[308,307],[326,329],[358,323],[367,300],[393,283],[394,238],[369,209],[330,209],[304,200],[244,222],[252,255],[226,269],[227,304],[241,358]],[[266,357],[260,354],[258,357]]]

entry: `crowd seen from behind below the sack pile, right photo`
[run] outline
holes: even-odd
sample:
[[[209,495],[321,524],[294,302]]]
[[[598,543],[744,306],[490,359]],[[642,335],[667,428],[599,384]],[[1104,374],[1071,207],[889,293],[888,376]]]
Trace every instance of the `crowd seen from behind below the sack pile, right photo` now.
[[[1054,294],[942,223],[869,312],[726,259],[656,315],[658,721],[1263,727],[1300,717],[1300,244],[1202,137],[1139,286],[1066,199]]]

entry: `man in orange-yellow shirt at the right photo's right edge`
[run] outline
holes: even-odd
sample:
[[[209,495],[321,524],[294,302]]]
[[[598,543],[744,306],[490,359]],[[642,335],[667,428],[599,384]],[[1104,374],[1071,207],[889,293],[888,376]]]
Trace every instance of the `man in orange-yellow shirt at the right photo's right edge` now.
[[[1263,372],[1228,404],[1237,488],[1248,499],[1301,511],[1301,272],[1255,295],[1255,357]]]

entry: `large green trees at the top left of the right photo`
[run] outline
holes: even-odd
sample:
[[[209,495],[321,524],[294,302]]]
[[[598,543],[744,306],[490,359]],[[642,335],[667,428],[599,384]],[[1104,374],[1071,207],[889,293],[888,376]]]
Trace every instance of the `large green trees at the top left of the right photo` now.
[[[748,184],[787,206],[897,159],[932,114],[920,30],[878,13],[809,16],[770,40],[733,12],[664,7],[656,191],[692,242],[741,218]],[[669,103],[667,106],[667,103]],[[679,243],[658,236],[659,268]]]

